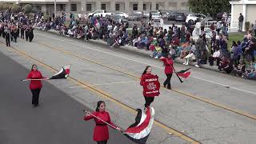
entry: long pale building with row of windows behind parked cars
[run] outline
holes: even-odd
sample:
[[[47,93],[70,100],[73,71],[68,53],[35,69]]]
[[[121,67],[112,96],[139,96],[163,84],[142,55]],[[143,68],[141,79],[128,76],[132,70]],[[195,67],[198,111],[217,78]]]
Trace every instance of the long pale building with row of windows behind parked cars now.
[[[108,10],[111,12],[150,10],[188,10],[188,0],[56,0],[57,11],[86,14],[94,10]],[[1,2],[18,2],[20,4],[32,4],[34,10],[54,12],[54,0],[1,0]]]

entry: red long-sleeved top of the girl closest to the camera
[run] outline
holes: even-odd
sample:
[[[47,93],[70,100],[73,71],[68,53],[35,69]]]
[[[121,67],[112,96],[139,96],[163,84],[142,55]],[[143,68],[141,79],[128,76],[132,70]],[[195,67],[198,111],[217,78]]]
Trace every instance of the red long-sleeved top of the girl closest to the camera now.
[[[110,125],[113,125],[113,122],[111,122],[110,120],[110,114],[106,111],[103,112],[97,112],[95,111],[94,114],[96,117],[101,118],[103,121],[110,123]],[[90,115],[90,116],[85,116],[84,120],[88,121],[90,119],[94,118],[94,116]],[[96,123],[96,126],[94,127],[94,141],[106,141],[109,139],[109,129],[107,127],[107,125],[105,125],[106,123],[102,122],[101,120],[99,120],[98,118],[94,118],[94,121]],[[105,126],[97,126],[97,125],[105,125]],[[114,127],[116,128],[116,126]]]

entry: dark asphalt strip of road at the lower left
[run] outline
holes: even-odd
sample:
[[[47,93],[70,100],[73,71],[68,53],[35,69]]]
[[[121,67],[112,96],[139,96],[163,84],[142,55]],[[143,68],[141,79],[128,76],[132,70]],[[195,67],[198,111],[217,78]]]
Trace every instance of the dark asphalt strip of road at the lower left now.
[[[1,46],[2,48],[2,46]],[[43,82],[39,106],[31,104],[29,70],[0,52],[0,143],[81,144],[92,140],[94,121],[83,121],[86,106],[48,82]],[[109,143],[133,143],[110,128]]]

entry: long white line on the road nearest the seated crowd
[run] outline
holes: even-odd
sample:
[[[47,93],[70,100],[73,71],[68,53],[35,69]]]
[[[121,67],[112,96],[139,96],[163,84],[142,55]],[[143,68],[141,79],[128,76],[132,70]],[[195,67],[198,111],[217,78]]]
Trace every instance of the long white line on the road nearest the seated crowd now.
[[[106,52],[106,51],[103,51],[103,50],[96,50],[96,49],[90,48],[90,47],[88,47],[88,46],[81,46],[81,45],[78,45],[76,42],[67,42],[67,41],[64,41],[64,40],[62,40],[62,39],[54,38],[54,37],[51,37],[51,36],[48,36],[48,35],[45,35],[45,34],[38,34],[38,35],[42,35],[42,36],[48,37],[48,38],[53,38],[53,39],[56,39],[56,40],[58,40],[58,41],[70,43],[70,44],[75,45],[75,46],[84,47],[84,48],[86,48],[86,49],[98,51],[98,52],[101,52],[101,53],[104,53],[104,54],[109,54],[109,55],[112,55],[112,56],[115,56],[115,57],[124,58],[124,59],[130,60],[130,61],[133,61],[133,62],[141,63],[141,64],[143,64],[143,65],[153,66],[153,67],[156,67],[156,68],[162,69],[162,70],[164,69],[163,67],[160,67],[160,66],[154,66],[154,65],[149,64],[149,63],[146,63],[146,62],[140,62],[140,61],[138,61],[138,60],[134,60],[134,59],[131,59],[131,58],[122,57],[122,56],[120,56],[120,55],[118,55],[118,54],[112,54],[112,53],[109,53],[109,52]],[[225,85],[225,84],[222,84],[222,83],[219,83],[219,82],[213,82],[213,81],[207,80],[207,79],[205,79],[205,78],[198,78],[198,77],[194,77],[194,76],[193,76],[192,78],[196,78],[196,79],[202,80],[202,81],[204,81],[204,82],[211,82],[211,83],[214,83],[214,84],[220,85],[220,86],[227,86],[227,85]],[[230,87],[230,86],[229,86],[229,87]],[[234,87],[234,86],[232,86],[232,87],[230,87],[230,88],[231,88],[231,89],[234,89],[234,90],[240,90],[240,91],[242,91],[242,92],[246,92],[246,93],[249,93],[249,94],[254,94],[254,95],[256,95],[256,92],[252,92],[252,91],[249,91],[249,90],[242,90],[242,89],[239,89],[239,88]]]

